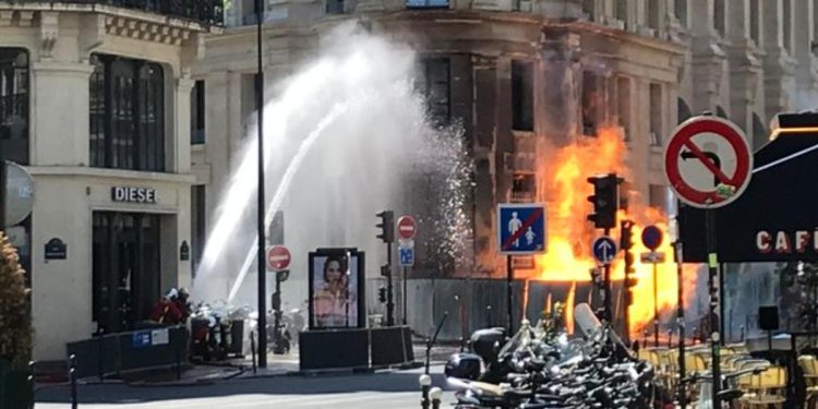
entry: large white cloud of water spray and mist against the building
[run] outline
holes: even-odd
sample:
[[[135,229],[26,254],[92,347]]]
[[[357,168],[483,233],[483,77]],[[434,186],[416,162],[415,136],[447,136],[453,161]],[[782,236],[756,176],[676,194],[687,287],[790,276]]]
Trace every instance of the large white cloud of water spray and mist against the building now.
[[[457,239],[441,248],[464,256],[471,236],[462,212],[469,166],[461,133],[428,120],[425,99],[412,86],[416,55],[352,25],[328,38],[264,107],[265,221],[284,210],[293,260],[282,296],[293,308],[308,297],[308,253],[317,248],[363,250],[368,276],[377,275],[386,254],[375,214],[410,212],[408,187],[419,176],[438,185],[434,207],[444,213],[428,225]],[[257,131],[248,133],[212,219],[196,300],[256,302]]]

